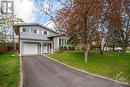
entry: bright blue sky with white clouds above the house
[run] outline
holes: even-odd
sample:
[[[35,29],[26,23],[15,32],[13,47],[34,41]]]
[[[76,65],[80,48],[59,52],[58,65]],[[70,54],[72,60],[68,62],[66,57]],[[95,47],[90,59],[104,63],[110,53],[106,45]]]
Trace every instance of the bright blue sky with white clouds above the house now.
[[[53,3],[55,8],[59,8],[56,0],[13,0],[15,15],[27,23],[40,23],[53,28],[54,24],[49,16],[43,14],[40,10],[48,8],[48,3]]]

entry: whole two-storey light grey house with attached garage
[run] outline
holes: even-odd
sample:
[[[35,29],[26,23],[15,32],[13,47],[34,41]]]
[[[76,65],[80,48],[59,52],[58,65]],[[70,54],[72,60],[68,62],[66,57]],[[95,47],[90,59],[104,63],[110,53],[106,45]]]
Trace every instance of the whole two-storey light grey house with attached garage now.
[[[20,55],[53,53],[60,46],[66,46],[68,37],[43,25],[23,23],[13,25],[18,36]]]

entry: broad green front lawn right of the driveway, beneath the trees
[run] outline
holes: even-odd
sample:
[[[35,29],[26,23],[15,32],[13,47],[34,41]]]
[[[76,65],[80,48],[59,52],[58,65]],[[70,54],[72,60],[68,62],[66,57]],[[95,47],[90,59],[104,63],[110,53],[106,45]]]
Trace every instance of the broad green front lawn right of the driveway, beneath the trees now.
[[[87,63],[84,62],[82,52],[54,53],[50,57],[75,68],[112,79],[116,79],[117,74],[123,72],[130,80],[130,54],[122,55],[118,52],[107,52],[101,55],[91,51]]]

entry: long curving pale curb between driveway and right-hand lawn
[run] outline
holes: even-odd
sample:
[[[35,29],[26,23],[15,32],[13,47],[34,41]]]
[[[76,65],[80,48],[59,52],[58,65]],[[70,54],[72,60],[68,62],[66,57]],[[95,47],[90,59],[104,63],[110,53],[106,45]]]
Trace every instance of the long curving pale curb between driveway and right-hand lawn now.
[[[81,70],[81,69],[72,67],[72,66],[70,66],[70,65],[67,65],[67,64],[65,64],[65,63],[63,63],[63,62],[61,62],[61,61],[59,61],[59,60],[56,60],[56,59],[54,59],[54,58],[52,58],[52,57],[49,57],[48,55],[42,55],[42,56],[45,56],[45,57],[47,57],[48,59],[51,59],[51,60],[53,60],[53,61],[55,61],[55,62],[58,62],[58,63],[60,63],[60,64],[62,64],[62,65],[64,65],[64,66],[66,66],[66,67],[69,67],[69,68],[71,68],[71,69],[73,69],[73,70],[77,70],[77,71],[80,71],[80,72],[83,72],[83,73],[86,73],[86,74],[90,74],[90,75],[95,76],[95,77],[103,78],[103,79],[106,79],[106,80],[110,80],[110,81],[113,81],[113,82],[117,82],[117,83],[121,83],[121,84],[125,84],[125,85],[128,85],[128,86],[129,86],[128,83],[121,82],[121,81],[114,80],[114,79],[111,79],[111,78],[108,78],[108,77],[105,77],[105,76],[93,74],[93,73],[90,73],[90,72],[88,72],[88,71],[84,71],[84,70]]]

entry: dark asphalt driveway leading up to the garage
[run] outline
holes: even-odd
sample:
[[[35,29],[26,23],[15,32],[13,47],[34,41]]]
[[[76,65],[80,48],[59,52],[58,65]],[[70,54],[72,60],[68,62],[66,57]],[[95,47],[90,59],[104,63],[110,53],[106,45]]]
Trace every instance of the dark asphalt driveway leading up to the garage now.
[[[22,57],[24,87],[129,87],[70,69],[43,56]]]

